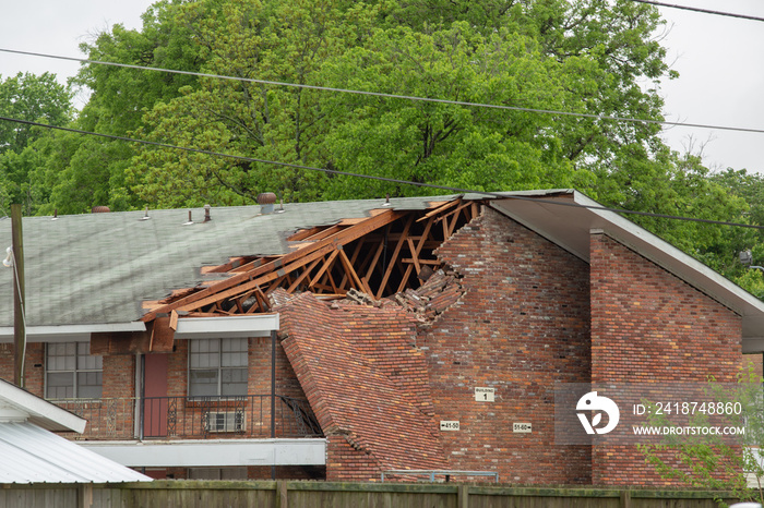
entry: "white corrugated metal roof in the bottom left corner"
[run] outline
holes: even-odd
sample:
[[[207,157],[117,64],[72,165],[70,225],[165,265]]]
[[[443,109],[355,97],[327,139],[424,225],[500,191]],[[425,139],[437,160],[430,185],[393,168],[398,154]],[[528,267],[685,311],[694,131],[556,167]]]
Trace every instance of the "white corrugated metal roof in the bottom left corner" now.
[[[0,484],[152,481],[28,422],[0,423]]]

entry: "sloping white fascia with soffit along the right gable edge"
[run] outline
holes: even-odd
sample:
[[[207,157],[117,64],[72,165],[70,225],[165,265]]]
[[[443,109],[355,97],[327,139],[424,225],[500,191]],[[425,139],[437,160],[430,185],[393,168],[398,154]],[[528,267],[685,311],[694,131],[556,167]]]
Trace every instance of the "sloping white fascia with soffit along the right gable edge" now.
[[[574,201],[584,206],[602,206],[577,191],[574,193]],[[606,221],[607,226],[598,226],[605,230],[606,234],[634,249],[641,255],[669,270],[680,279],[705,291],[709,297],[732,309],[738,314],[742,316],[752,314],[764,315],[764,302],[694,257],[614,211],[596,208],[588,209],[592,214]]]

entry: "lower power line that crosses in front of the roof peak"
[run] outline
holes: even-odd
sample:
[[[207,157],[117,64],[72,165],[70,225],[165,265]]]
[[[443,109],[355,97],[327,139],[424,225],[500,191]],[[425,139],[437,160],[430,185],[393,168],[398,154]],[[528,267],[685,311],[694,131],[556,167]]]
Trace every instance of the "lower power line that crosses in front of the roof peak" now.
[[[0,121],[21,123],[24,125],[38,126],[38,128],[45,128],[45,129],[52,129],[52,130],[63,131],[63,132],[72,132],[72,133],[82,134],[82,135],[98,136],[98,137],[104,137],[107,140],[116,140],[116,141],[123,141],[123,142],[128,142],[128,143],[139,143],[139,144],[143,144],[143,145],[158,146],[160,148],[169,148],[169,149],[176,149],[176,150],[182,150],[182,152],[190,152],[193,154],[210,155],[213,157],[222,157],[222,158],[228,158],[228,159],[234,159],[234,160],[241,160],[241,161],[246,161],[246,162],[256,162],[256,164],[264,164],[264,165],[271,165],[271,166],[280,166],[283,168],[302,169],[302,170],[307,170],[307,171],[317,171],[317,172],[322,172],[322,173],[326,173],[326,174],[336,174],[338,177],[362,178],[362,179],[367,179],[367,180],[375,180],[375,181],[386,182],[386,183],[397,183],[397,184],[402,184],[402,185],[413,185],[413,186],[425,188],[425,189],[437,189],[439,191],[449,191],[449,192],[454,192],[454,193],[459,193],[459,194],[481,194],[485,196],[499,197],[502,199],[506,199],[506,198],[520,199],[520,201],[528,201],[528,202],[533,202],[533,203],[545,203],[545,204],[549,204],[549,205],[568,206],[568,207],[573,207],[573,208],[586,208],[586,209],[592,209],[592,210],[612,211],[612,213],[617,213],[617,214],[638,215],[638,216],[643,216],[643,217],[655,217],[655,218],[661,218],[661,219],[684,220],[684,221],[689,221],[689,222],[702,222],[702,223],[718,225],[718,226],[733,226],[733,227],[750,228],[750,229],[764,229],[764,226],[747,225],[747,223],[741,223],[741,222],[730,222],[730,221],[726,221],[726,220],[700,219],[700,218],[695,218],[695,217],[683,217],[683,216],[668,215],[668,214],[655,214],[652,211],[635,211],[635,210],[628,210],[628,209],[623,209],[623,208],[611,208],[611,207],[601,206],[601,205],[598,206],[598,205],[582,205],[578,203],[564,203],[564,202],[559,202],[559,201],[544,199],[544,198],[536,198],[536,197],[528,197],[528,196],[506,195],[506,194],[501,193],[501,192],[475,191],[471,189],[462,189],[462,188],[455,188],[455,186],[450,186],[450,185],[438,185],[434,183],[413,182],[410,180],[401,180],[401,179],[396,179],[396,178],[378,177],[374,174],[353,173],[353,172],[348,172],[348,171],[338,171],[336,169],[317,168],[313,166],[303,166],[303,165],[291,164],[291,162],[280,162],[277,160],[256,159],[253,157],[246,157],[246,156],[241,156],[241,155],[223,154],[219,152],[205,150],[202,148],[191,148],[191,147],[187,147],[187,146],[170,145],[168,143],[159,143],[159,142],[155,142],[155,141],[138,140],[138,138],[126,137],[126,136],[117,136],[114,134],[102,134],[102,133],[97,133],[97,132],[89,132],[89,131],[82,131],[80,129],[50,125],[50,124],[46,124],[46,123],[32,122],[28,120],[20,120],[20,119],[9,118],[9,117],[0,117]]]

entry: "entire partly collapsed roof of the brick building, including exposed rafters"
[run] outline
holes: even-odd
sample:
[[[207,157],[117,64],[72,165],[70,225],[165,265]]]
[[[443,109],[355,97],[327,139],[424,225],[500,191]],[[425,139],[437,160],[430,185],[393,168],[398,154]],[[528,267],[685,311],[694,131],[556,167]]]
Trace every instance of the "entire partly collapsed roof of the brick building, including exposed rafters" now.
[[[742,316],[764,342],[764,304],[656,235],[572,190],[24,218],[31,336],[144,330],[158,316],[268,310],[270,292],[373,298],[417,288],[433,251],[486,205],[588,261],[593,229],[633,249]],[[189,223],[191,222],[191,223]],[[10,220],[0,238],[11,244]],[[0,336],[12,336],[12,270],[0,270]],[[745,343],[744,340],[744,343]],[[749,348],[750,349],[750,348]]]

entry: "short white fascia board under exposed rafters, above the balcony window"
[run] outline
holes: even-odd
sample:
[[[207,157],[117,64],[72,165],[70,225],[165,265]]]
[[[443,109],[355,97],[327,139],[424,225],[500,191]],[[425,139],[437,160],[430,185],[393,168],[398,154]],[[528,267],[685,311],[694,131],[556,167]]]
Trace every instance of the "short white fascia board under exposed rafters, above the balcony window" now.
[[[278,330],[278,314],[246,316],[181,317],[176,339],[270,337]]]

